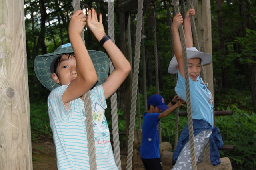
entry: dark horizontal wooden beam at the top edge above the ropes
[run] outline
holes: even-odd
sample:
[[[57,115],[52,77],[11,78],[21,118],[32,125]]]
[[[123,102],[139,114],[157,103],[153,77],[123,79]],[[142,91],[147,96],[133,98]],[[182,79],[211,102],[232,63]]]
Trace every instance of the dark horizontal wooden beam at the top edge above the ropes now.
[[[156,0],[144,0],[143,5],[148,5],[152,2],[156,2]],[[138,8],[138,0],[127,0],[118,5],[117,10],[122,12],[129,12],[132,10],[136,10]]]

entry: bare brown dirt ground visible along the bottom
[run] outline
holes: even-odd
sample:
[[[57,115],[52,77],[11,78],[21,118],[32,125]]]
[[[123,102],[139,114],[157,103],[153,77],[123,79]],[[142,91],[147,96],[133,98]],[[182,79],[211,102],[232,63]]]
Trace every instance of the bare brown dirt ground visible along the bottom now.
[[[127,155],[121,152],[122,170],[126,170]],[[137,154],[137,161],[133,163],[134,170],[144,170],[143,163]],[[32,143],[32,159],[34,170],[57,170],[55,146],[52,142]],[[164,170],[170,170],[169,165],[163,165]]]

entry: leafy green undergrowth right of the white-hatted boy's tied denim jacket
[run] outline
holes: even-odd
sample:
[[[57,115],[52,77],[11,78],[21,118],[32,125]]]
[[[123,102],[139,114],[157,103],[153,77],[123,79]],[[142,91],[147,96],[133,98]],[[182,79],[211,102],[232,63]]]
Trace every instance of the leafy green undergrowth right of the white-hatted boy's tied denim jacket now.
[[[236,106],[227,107],[233,116],[216,117],[226,145],[235,145],[234,151],[220,151],[221,157],[228,157],[236,170],[255,169],[256,164],[256,114],[248,114]]]

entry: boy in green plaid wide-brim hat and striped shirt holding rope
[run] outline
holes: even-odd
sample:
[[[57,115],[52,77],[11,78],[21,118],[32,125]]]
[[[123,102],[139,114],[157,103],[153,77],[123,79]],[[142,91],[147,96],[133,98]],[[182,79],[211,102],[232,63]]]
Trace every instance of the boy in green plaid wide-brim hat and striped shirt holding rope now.
[[[57,154],[58,169],[90,169],[85,124],[84,95],[90,91],[97,169],[118,170],[110,143],[110,132],[104,109],[110,97],[128,76],[131,66],[120,49],[106,36],[102,15],[76,11],[69,24],[71,44],[58,47],[54,53],[37,56],[34,67],[39,81],[51,93],[48,114]],[[115,67],[108,77],[108,56],[100,51],[87,51],[80,36],[87,25],[106,49]],[[103,62],[103,63],[102,63]],[[104,63],[105,62],[105,63]],[[107,66],[107,67],[105,67]],[[106,79],[106,77],[108,77]]]

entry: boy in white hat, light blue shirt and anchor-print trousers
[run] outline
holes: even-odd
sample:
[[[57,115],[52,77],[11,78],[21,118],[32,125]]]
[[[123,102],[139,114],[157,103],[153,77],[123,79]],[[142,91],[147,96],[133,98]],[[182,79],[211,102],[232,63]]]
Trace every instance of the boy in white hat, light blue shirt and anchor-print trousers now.
[[[204,148],[208,141],[210,141],[210,160],[213,165],[217,165],[220,164],[220,154],[218,149],[223,147],[223,141],[218,128],[213,127],[214,109],[212,105],[212,94],[199,77],[201,66],[212,62],[212,56],[209,53],[199,52],[195,47],[193,47],[190,14],[193,16],[195,15],[194,8],[186,12],[184,19],[184,34],[188,55],[188,75],[190,79],[196,162],[203,161]],[[168,72],[171,74],[178,72],[178,81],[175,91],[181,99],[186,101],[182,44],[178,31],[178,28],[182,23],[183,18],[181,14],[176,14],[172,23],[175,57],[173,57],[170,62]],[[176,162],[176,164],[173,166],[173,170],[186,170],[192,168],[188,125],[186,125],[186,127],[182,130],[178,145],[173,154],[173,162],[174,164]]]

